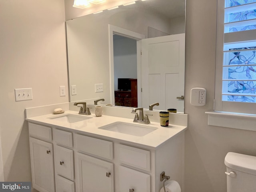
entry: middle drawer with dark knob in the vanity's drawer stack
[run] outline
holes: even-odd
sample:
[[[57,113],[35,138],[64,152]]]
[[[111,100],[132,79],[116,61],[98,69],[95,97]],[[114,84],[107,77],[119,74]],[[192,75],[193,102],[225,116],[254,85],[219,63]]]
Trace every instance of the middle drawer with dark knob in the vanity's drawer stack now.
[[[73,150],[54,145],[54,167],[57,174],[74,180]]]

